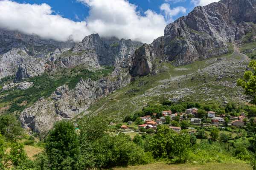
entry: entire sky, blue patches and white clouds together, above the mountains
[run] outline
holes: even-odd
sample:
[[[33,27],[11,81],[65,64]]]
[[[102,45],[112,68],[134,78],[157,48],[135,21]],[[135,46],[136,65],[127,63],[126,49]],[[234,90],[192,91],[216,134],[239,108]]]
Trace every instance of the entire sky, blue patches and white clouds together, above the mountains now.
[[[57,41],[98,33],[151,43],[197,5],[218,0],[0,0],[0,27]]]

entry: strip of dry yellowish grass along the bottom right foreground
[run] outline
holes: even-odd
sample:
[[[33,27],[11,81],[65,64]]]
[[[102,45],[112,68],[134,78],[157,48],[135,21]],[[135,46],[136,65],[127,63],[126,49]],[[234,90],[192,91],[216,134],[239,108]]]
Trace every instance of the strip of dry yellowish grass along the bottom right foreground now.
[[[252,170],[245,163],[211,163],[211,164],[165,164],[155,163],[133,167],[113,168],[112,170]]]

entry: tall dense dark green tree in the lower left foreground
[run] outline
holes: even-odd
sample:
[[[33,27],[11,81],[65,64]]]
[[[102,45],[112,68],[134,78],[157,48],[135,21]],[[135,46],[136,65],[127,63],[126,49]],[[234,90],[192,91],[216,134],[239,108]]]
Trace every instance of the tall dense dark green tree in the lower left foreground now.
[[[46,138],[45,151],[52,170],[74,170],[79,156],[79,141],[70,122],[57,122]]]

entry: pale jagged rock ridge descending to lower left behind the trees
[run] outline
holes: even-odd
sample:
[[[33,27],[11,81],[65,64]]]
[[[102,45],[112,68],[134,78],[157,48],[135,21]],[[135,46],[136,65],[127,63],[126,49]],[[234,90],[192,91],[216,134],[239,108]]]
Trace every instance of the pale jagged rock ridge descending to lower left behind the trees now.
[[[92,81],[83,80],[72,90],[63,85],[48,98],[42,97],[33,106],[26,108],[20,115],[23,127],[34,132],[46,134],[55,122],[72,119],[97,99],[130,83],[128,69],[116,68],[110,77]]]

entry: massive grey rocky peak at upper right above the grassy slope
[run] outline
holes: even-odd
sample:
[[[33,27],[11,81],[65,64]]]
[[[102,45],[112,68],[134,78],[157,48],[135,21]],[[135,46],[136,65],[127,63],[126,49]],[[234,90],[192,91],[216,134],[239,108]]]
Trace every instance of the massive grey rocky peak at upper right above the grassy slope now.
[[[255,0],[221,0],[195,7],[187,16],[166,26],[164,36],[152,42],[153,58],[178,66],[226,54],[227,43],[241,39],[253,29],[253,23]],[[136,53],[134,58],[140,61],[145,55]]]

